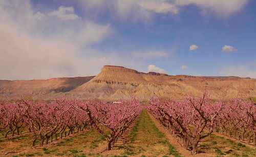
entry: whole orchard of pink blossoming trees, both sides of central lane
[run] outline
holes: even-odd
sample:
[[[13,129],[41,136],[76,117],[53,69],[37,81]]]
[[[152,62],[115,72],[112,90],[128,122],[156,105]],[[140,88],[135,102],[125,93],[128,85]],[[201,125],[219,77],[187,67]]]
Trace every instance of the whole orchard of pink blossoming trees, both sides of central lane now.
[[[20,129],[27,130],[30,145],[35,148],[73,133],[95,129],[106,139],[105,150],[109,151],[127,128],[139,121],[137,117],[143,108],[191,154],[198,154],[198,144],[215,132],[256,145],[256,103],[250,98],[212,102],[206,92],[198,98],[186,96],[182,101],[153,97],[148,99],[147,105],[135,98],[120,100],[120,103],[65,98],[39,102],[2,101],[0,131],[4,132],[3,138],[8,138],[20,136]],[[145,109],[141,115],[146,115]],[[135,131],[130,135],[136,134]]]

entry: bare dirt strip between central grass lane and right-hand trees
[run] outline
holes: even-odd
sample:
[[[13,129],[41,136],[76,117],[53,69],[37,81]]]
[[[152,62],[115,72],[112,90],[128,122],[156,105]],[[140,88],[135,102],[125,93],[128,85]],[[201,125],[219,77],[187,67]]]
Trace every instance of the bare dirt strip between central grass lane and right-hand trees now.
[[[196,154],[196,155],[191,155],[191,152],[189,150],[187,150],[186,148],[184,148],[182,146],[182,143],[179,142],[177,139],[175,139],[165,129],[165,127],[160,124],[160,122],[157,119],[155,119],[150,113],[148,113],[148,115],[150,115],[151,119],[154,121],[154,123],[159,128],[159,130],[162,131],[165,134],[166,138],[169,140],[169,143],[177,148],[177,150],[179,151],[180,155],[182,155],[182,156],[215,156],[216,155],[216,154],[213,154],[213,153],[199,153],[199,154]]]

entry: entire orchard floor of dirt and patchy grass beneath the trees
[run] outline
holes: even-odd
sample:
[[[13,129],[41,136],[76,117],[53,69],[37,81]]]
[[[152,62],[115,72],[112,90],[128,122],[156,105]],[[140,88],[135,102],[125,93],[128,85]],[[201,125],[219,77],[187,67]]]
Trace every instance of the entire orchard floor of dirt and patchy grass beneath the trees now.
[[[199,154],[191,155],[182,144],[152,115],[142,115],[122,134],[112,150],[105,151],[106,140],[95,129],[71,134],[43,147],[30,146],[28,132],[21,136],[0,139],[0,156],[256,156],[256,147],[241,144],[241,141],[212,134],[199,142]],[[174,152],[169,152],[169,146]],[[6,153],[11,152],[7,155]],[[174,155],[175,154],[175,155]]]

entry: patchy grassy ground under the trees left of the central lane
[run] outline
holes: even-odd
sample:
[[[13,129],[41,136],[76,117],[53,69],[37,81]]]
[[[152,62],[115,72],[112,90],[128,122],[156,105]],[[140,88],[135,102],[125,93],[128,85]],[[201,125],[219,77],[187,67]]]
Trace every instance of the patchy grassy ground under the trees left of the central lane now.
[[[0,156],[4,156],[6,152],[10,151],[22,151],[27,149],[27,153],[16,153],[13,156],[89,156],[94,149],[101,145],[105,141],[105,137],[101,136],[96,129],[90,129],[79,134],[74,134],[72,138],[66,138],[65,140],[59,139],[58,144],[44,145],[40,149],[31,149],[30,136],[23,134],[19,137],[10,139],[1,139]],[[12,144],[10,144],[10,142]],[[37,140],[39,145],[40,140]],[[90,146],[93,146],[90,148]],[[96,156],[96,155],[92,155]]]

